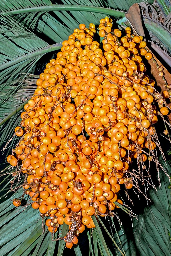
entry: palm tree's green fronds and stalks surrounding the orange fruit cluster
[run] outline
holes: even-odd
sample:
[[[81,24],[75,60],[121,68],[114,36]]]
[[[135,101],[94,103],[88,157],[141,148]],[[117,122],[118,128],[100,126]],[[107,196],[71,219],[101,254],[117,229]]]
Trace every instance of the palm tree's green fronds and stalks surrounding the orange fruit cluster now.
[[[13,178],[9,174],[12,170],[6,162],[6,156],[17,143],[17,139],[13,137],[14,128],[21,120],[20,114],[24,105],[35,91],[39,74],[61,48],[61,43],[68,39],[80,23],[87,26],[93,22],[97,25],[101,18],[110,16],[115,26],[119,28],[131,24],[139,35],[143,35],[145,31],[150,49],[160,58],[162,64],[168,69],[171,67],[170,1],[139,2],[136,0],[1,1],[0,146],[4,154],[1,157],[0,256],[67,254],[167,256],[171,254],[170,184],[162,170],[159,170],[161,184],[158,191],[152,189],[148,195],[152,203],[147,206],[142,199],[143,206],[140,210],[136,211],[134,207],[135,214],[140,216],[131,219],[132,211],[122,207],[123,213],[118,210],[119,217],[123,219],[122,226],[117,218],[107,217],[104,220],[98,217],[97,221],[93,216],[96,228],[80,234],[78,245],[71,250],[64,248],[64,240],[52,240],[46,228],[42,234],[42,219],[37,210],[31,207],[23,211],[14,208],[12,200],[19,198],[22,190],[19,189],[15,193],[9,190]],[[140,16],[137,16],[137,5],[132,6],[134,3],[139,3],[144,29]],[[131,6],[132,9],[128,11]],[[158,85],[161,85],[161,80],[153,70],[152,72]],[[165,71],[165,77],[170,79],[169,72]],[[169,152],[168,149],[167,160],[164,161],[160,157],[160,162],[170,176]],[[63,237],[67,232],[67,225],[63,224],[58,236]]]

